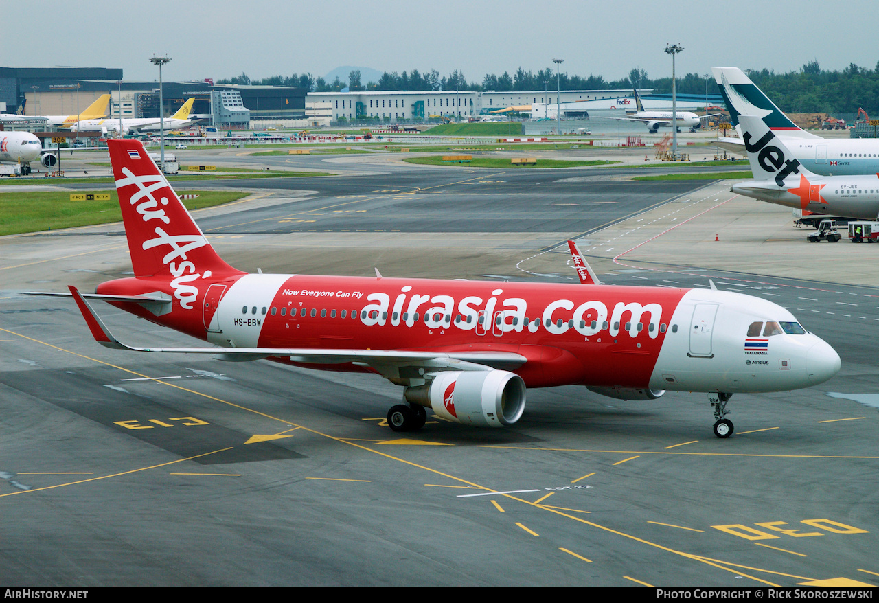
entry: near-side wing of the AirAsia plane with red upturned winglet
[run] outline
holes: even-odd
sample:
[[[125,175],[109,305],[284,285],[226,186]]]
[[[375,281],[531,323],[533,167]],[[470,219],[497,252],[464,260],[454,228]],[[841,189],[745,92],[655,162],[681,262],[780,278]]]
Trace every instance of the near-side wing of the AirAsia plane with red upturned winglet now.
[[[95,314],[89,302],[85,301],[83,294],[76,287],[69,287],[70,294],[76,300],[88,324],[92,337],[105,347],[116,350],[130,350],[133,352],[171,352],[171,353],[194,353],[211,354],[217,360],[244,362],[259,360],[268,357],[287,356],[293,362],[303,364],[345,364],[351,362],[364,367],[370,367],[375,372],[385,377],[399,377],[399,367],[418,365],[428,368],[430,371],[437,370],[465,370],[465,371],[488,371],[493,368],[512,370],[520,367],[527,361],[525,356],[514,352],[418,352],[398,350],[360,350],[360,349],[327,349],[327,348],[278,348],[278,347],[138,347],[126,345],[113,336],[104,322]],[[63,294],[60,294],[63,295]],[[126,296],[126,295],[94,295],[93,299],[104,299],[106,302],[138,302],[141,297],[149,296]],[[119,300],[115,298],[130,298]],[[113,298],[113,299],[110,299]]]

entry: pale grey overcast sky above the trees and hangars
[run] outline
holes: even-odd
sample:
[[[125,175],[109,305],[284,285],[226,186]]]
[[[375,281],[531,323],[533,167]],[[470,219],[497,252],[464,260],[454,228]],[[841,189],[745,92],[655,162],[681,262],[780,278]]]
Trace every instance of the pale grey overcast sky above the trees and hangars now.
[[[158,79],[149,58],[168,54],[165,81],[326,76],[355,65],[461,69],[482,83],[486,73],[536,73],[561,58],[570,75],[614,80],[634,67],[671,76],[663,48],[673,42],[684,47],[679,76],[725,66],[785,72],[813,59],[823,69],[874,69],[877,9],[869,0],[52,0],[4,11],[0,61],[121,68],[126,80],[147,81]],[[35,14],[43,10],[50,21]]]

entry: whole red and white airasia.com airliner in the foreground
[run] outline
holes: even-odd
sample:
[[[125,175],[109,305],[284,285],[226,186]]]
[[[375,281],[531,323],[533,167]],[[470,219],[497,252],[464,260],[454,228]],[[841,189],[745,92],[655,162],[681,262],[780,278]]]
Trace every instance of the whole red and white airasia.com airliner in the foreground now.
[[[732,394],[807,388],[839,371],[839,355],[788,310],[744,294],[241,272],[217,255],[141,142],[107,145],[134,277],[94,294],[69,287],[106,347],[379,374],[403,388],[388,414],[397,432],[424,425],[425,409],[512,425],[527,388],[576,384],[626,400],[708,392],[725,438]],[[90,301],[211,345],[123,344]]]

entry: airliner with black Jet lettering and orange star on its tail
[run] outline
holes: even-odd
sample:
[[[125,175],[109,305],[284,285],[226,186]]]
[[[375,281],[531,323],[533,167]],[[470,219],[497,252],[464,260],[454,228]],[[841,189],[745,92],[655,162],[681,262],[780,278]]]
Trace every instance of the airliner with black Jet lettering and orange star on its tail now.
[[[807,170],[779,138],[754,115],[739,115],[742,143],[754,179],[732,185],[730,191],[770,203],[866,220],[879,219],[879,174],[818,176]]]

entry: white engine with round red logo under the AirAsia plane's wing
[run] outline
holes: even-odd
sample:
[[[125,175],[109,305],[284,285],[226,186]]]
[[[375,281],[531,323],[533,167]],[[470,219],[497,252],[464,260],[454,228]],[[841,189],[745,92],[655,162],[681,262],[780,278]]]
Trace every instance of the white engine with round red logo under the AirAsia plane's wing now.
[[[525,381],[507,371],[448,371],[426,385],[406,388],[404,396],[455,423],[504,427],[522,416],[525,390]]]

